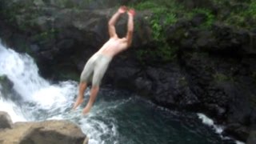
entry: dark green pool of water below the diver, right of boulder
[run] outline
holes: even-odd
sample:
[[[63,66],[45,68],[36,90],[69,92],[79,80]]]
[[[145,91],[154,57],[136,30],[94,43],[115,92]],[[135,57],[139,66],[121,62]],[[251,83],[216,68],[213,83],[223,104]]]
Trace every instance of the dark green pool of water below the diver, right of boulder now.
[[[102,131],[102,143],[234,144],[221,138],[211,126],[202,124],[197,114],[165,110],[124,91],[101,90],[91,113],[82,118],[87,120],[73,121],[83,129],[86,124],[82,122],[91,122]],[[99,123],[106,127],[102,129]]]

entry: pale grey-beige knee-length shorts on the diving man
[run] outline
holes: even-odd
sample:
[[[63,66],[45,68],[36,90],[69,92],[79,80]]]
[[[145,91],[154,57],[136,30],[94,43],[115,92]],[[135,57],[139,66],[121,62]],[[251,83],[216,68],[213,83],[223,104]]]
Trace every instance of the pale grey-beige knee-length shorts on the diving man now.
[[[94,54],[82,70],[81,82],[92,82],[92,86],[99,86],[111,59],[103,54]]]

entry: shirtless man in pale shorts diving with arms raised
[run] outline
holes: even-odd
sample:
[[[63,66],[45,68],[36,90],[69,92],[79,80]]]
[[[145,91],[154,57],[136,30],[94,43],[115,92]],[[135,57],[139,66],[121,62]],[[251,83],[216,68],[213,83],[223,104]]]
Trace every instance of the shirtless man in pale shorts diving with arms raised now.
[[[88,62],[86,62],[86,66],[84,67],[84,70],[82,70],[78,98],[74,103],[73,109],[76,109],[83,102],[83,94],[86,90],[87,84],[88,82],[92,82],[90,99],[86,107],[82,110],[83,114],[89,113],[90,108],[93,106],[103,75],[105,74],[112,58],[114,58],[116,54],[126,50],[132,42],[134,32],[134,9],[127,10],[128,23],[125,38],[118,38],[118,34],[116,34],[114,27],[118,18],[122,14],[125,14],[126,10],[126,6],[121,6],[112,18],[110,18],[110,21],[108,22],[110,39],[88,60]]]

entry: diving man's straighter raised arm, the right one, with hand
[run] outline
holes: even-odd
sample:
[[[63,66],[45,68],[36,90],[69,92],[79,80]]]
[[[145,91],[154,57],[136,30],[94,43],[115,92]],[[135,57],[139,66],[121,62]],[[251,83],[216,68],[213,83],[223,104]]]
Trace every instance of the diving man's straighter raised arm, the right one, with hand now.
[[[135,15],[135,10],[130,9],[128,11],[128,22],[127,22],[127,45],[128,47],[131,45],[132,39],[133,39],[133,33],[134,33],[134,15]]]

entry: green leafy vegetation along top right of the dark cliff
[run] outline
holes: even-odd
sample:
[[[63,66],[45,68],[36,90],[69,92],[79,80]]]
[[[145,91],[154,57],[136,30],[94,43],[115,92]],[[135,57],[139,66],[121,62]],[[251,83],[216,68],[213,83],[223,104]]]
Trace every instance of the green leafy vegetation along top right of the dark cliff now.
[[[208,6],[202,4],[202,6],[187,9],[182,2],[174,0],[134,2],[132,6],[136,10],[148,10],[152,13],[146,20],[150,23],[151,36],[158,46],[155,50],[138,50],[138,57],[150,54],[151,57],[161,58],[164,62],[175,58],[177,48],[166,43],[166,28],[174,25],[181,18],[192,20],[198,14],[204,15],[204,19],[197,28],[206,30],[210,29],[216,21],[247,29],[256,25],[256,1],[212,0],[210,3],[211,5]]]

